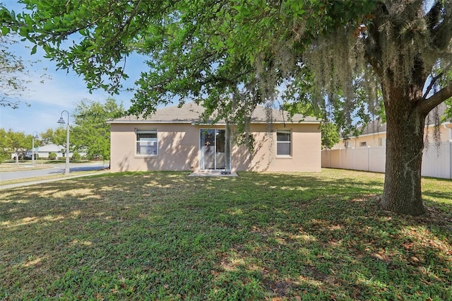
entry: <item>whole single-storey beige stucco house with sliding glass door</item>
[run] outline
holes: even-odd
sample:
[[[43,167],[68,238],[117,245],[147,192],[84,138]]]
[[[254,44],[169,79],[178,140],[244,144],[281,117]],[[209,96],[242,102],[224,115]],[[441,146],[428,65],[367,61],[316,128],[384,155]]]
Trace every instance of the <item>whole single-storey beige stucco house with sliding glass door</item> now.
[[[148,119],[121,117],[111,122],[110,167],[118,171],[251,170],[321,171],[320,121],[314,117],[256,107],[250,131],[254,153],[229,143],[225,122],[200,124],[203,107],[193,102],[165,107]]]

